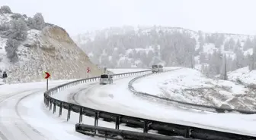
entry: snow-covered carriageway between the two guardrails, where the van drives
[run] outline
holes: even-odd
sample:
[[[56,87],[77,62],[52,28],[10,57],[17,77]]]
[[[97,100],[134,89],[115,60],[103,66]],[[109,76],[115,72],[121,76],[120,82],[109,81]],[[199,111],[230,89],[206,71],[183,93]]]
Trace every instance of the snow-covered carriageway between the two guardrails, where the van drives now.
[[[98,110],[107,110],[117,114],[144,117],[169,123],[256,135],[255,115],[213,114],[198,110],[182,109],[168,104],[150,101],[133,95],[128,89],[128,82],[135,76],[114,80],[114,84],[80,85],[67,89],[55,98],[75,102]],[[144,85],[145,86],[145,85]],[[145,88],[152,89],[150,86]],[[239,123],[238,123],[239,122]]]

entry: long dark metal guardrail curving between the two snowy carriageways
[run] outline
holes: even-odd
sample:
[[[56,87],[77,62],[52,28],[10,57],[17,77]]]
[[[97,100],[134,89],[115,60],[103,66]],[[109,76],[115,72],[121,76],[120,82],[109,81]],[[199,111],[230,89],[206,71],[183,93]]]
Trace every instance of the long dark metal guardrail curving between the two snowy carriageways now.
[[[144,70],[140,72],[133,73],[120,73],[114,74],[115,77],[119,76],[131,76],[136,74],[149,73],[151,70]],[[75,112],[79,114],[78,124],[82,123],[82,115],[88,117],[94,117],[94,126],[98,126],[98,120],[103,120],[111,123],[115,123],[115,129],[119,129],[120,124],[125,126],[140,128],[143,130],[143,133],[149,132],[150,130],[155,130],[156,133],[168,136],[181,136],[185,138],[200,138],[200,139],[209,139],[209,140],[241,140],[241,139],[251,139],[256,140],[256,137],[248,135],[238,135],[229,132],[218,132],[215,130],[201,129],[193,126],[184,126],[174,123],[165,123],[157,120],[148,120],[139,117],[131,117],[122,114],[114,114],[103,110],[95,110],[89,107],[83,107],[78,104],[72,104],[66,101],[60,101],[56,98],[51,97],[51,95],[61,92],[62,90],[82,84],[85,82],[92,82],[99,79],[98,77],[93,77],[89,79],[78,79],[73,82],[68,82],[61,86],[57,86],[53,89],[49,89],[44,92],[44,104],[46,107],[49,107],[50,110],[53,108],[53,114],[56,113],[56,106],[59,107],[59,117],[62,115],[62,109],[68,110],[67,121],[70,119],[70,113]],[[81,126],[81,129],[86,129],[87,126]],[[100,127],[94,127],[95,130],[101,130]],[[107,132],[111,130],[108,129]],[[112,131],[114,133],[114,131]],[[134,132],[135,134],[136,132]],[[142,132],[141,132],[142,133]],[[130,135],[131,136],[131,135]],[[107,137],[107,135],[106,135]],[[178,138],[178,137],[177,137]],[[143,138],[142,138],[143,139]],[[180,138],[184,139],[184,138]],[[160,140],[160,139],[159,139]]]

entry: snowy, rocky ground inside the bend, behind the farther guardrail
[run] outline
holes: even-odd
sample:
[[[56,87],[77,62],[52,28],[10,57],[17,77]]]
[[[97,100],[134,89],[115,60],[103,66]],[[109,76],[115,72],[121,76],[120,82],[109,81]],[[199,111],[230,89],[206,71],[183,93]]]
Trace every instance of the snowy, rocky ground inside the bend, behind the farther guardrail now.
[[[256,94],[250,89],[231,81],[209,79],[189,68],[137,79],[133,86],[139,92],[178,101],[256,110]]]

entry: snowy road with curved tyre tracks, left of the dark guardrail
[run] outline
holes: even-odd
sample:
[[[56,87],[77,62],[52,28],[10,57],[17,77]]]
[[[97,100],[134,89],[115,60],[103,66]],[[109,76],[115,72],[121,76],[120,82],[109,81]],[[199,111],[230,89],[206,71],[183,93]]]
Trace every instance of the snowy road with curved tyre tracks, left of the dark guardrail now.
[[[50,81],[50,88],[69,82]],[[0,86],[0,139],[102,139],[75,132],[75,123],[48,115],[43,105],[46,82]]]

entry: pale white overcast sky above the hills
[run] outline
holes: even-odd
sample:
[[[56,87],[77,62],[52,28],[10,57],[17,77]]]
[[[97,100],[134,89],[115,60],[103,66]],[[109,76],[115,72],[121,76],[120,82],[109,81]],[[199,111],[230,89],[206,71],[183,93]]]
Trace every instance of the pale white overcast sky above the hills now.
[[[256,0],[0,0],[0,5],[30,17],[41,12],[71,36],[123,25],[256,35]]]

